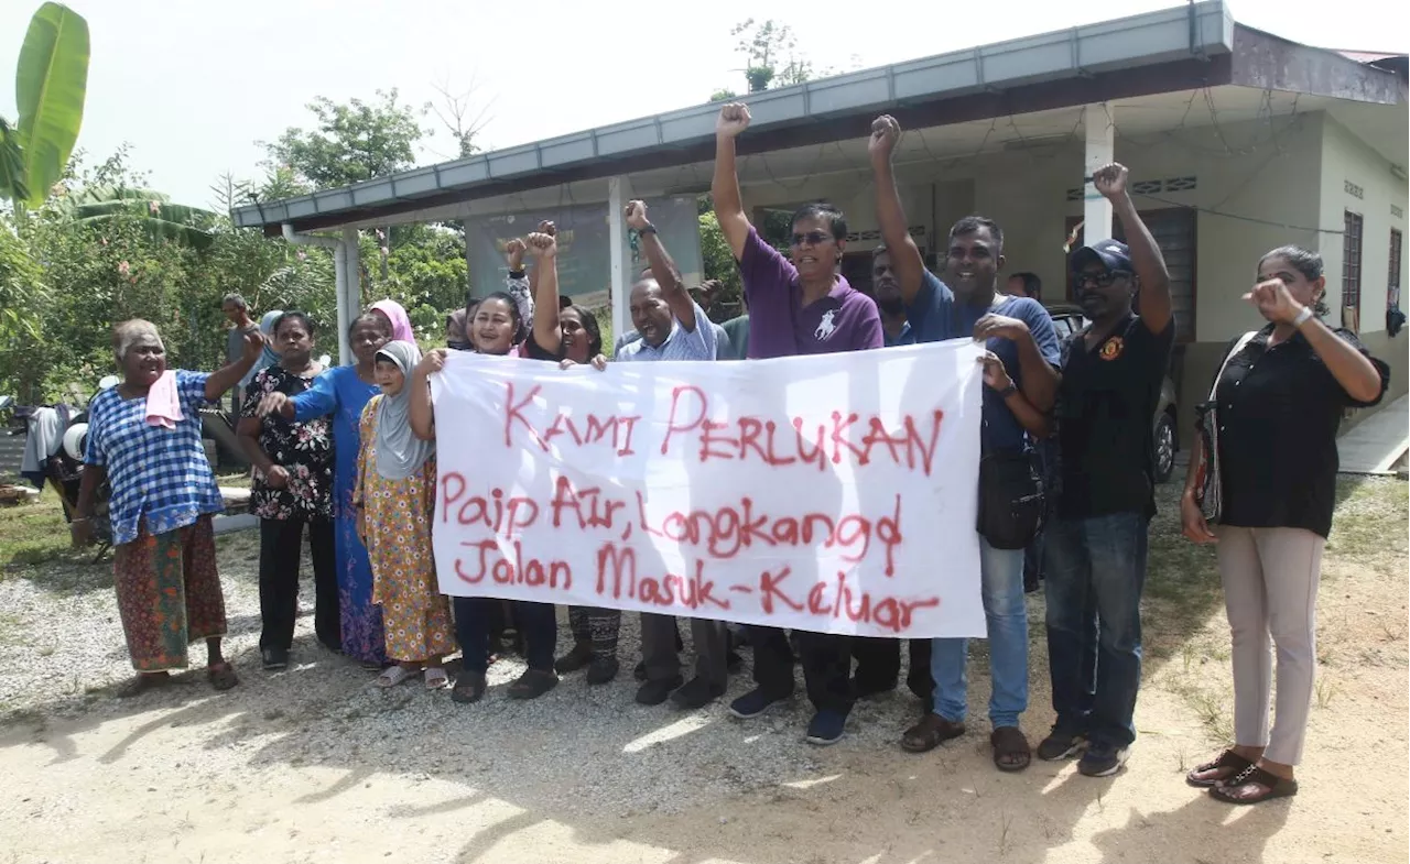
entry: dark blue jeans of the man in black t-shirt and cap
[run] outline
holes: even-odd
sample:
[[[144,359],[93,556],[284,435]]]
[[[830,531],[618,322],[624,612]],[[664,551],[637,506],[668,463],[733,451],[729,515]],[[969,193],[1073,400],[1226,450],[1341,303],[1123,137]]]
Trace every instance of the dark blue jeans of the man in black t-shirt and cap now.
[[[1148,531],[1144,513],[1048,523],[1048,662],[1059,732],[1117,747],[1136,737]]]

